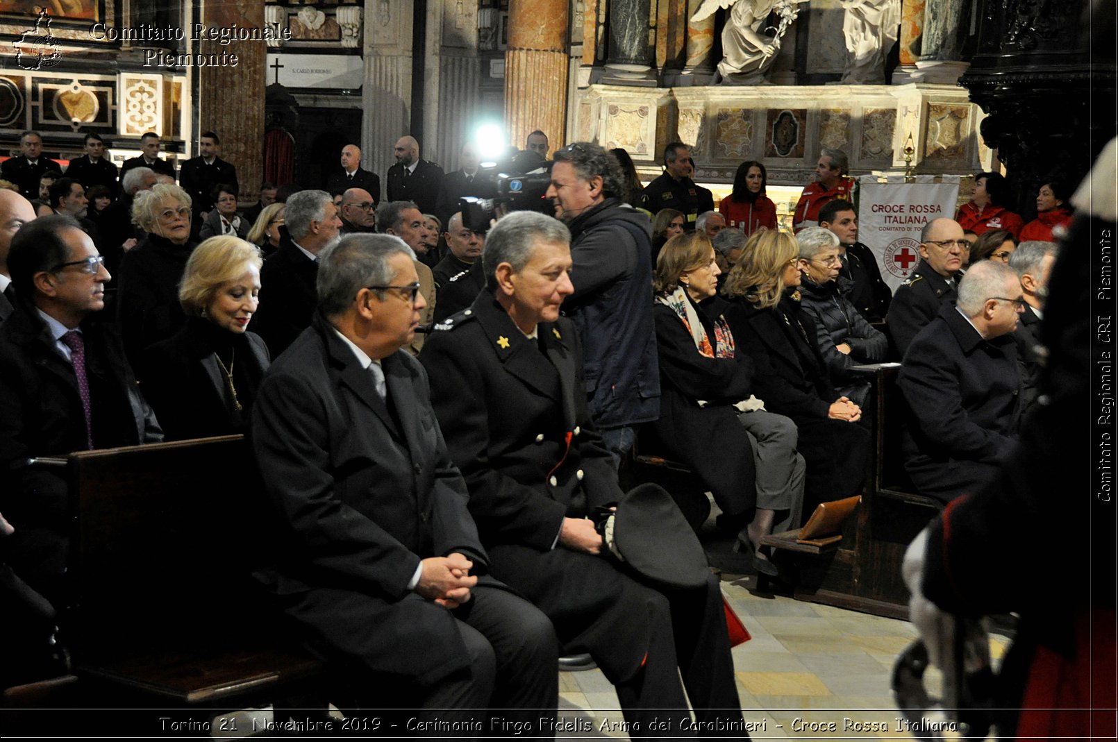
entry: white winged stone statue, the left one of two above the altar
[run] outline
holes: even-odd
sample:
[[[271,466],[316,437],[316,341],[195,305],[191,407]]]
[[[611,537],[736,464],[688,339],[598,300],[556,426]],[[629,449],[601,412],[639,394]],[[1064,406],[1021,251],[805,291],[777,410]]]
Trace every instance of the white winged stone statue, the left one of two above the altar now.
[[[797,4],[807,0],[703,0],[692,21],[709,18],[719,8],[733,7],[722,29],[722,61],[718,72],[723,84],[765,85],[768,70],[780,50],[780,38],[796,18]],[[780,17],[776,34],[767,38],[764,32],[769,13]],[[769,27],[773,28],[773,27]]]

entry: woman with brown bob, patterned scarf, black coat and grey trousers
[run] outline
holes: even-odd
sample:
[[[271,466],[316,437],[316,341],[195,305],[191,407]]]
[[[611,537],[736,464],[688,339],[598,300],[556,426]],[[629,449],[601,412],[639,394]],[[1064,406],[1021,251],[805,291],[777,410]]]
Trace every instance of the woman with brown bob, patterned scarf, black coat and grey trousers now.
[[[656,260],[653,316],[660,358],[656,432],[702,478],[738,532],[736,550],[755,570],[776,574],[757,549],[778,517],[798,524],[804,460],[796,427],[751,394],[754,364],[735,350],[716,295],[720,270],[700,230],[673,237]],[[779,514],[779,516],[778,516]]]

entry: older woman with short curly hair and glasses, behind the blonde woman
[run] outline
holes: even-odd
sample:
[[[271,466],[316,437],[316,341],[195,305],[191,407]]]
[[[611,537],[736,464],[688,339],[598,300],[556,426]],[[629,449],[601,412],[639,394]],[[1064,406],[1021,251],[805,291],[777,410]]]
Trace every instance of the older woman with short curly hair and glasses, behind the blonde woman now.
[[[117,280],[117,317],[133,369],[145,348],[173,335],[186,323],[179,280],[195,248],[190,239],[190,196],[169,183],[140,191],[132,220],[148,236],[129,250]]]

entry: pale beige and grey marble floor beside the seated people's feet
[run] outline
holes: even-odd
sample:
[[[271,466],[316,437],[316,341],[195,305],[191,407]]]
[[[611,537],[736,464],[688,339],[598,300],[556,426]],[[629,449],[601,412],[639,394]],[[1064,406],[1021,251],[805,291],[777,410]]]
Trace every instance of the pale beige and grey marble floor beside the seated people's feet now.
[[[898,729],[900,713],[890,689],[897,655],[916,637],[911,624],[800,602],[754,586],[754,578],[723,575],[723,592],[752,636],[733,649],[738,695],[752,739],[913,739]],[[992,635],[995,662],[1006,644]],[[926,681],[935,692],[932,672]],[[627,739],[617,696],[600,670],[560,673],[559,696],[562,727],[572,730],[559,739]],[[249,730],[250,719],[271,719],[271,712],[245,710],[231,716],[240,719],[239,730]]]

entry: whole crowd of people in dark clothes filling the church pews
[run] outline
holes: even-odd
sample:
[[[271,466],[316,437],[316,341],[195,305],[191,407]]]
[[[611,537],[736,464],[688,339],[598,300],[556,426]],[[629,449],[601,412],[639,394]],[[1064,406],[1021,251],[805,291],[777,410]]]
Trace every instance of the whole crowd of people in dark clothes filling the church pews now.
[[[650,589],[604,558],[590,517],[624,494],[615,444],[628,426],[595,418],[588,403],[609,403],[616,380],[603,375],[603,356],[582,359],[578,325],[563,314],[577,301],[593,333],[609,302],[624,301],[647,321],[655,353],[606,359],[618,369],[651,363],[632,378],[642,413],[653,413],[633,427],[654,428],[712,494],[736,567],[777,575],[761,539],[798,526],[818,503],[859,494],[866,476],[869,387],[853,367],[884,360],[889,341],[844,272],[844,257],[862,259],[849,251],[856,223],[840,219],[852,209],[816,203],[823,226],[795,237],[756,215],[752,229],[739,229],[733,215],[767,200],[764,168],[743,163],[743,190],[722,211],[728,228],[704,212],[701,228],[686,230],[683,212],[648,219],[633,209],[631,179],[601,148],[580,143],[556,160],[557,219],[512,215],[484,248],[480,235],[463,237],[481,249],[470,255],[480,267],[458,266],[475,289],[424,327],[432,334],[418,361],[430,278],[443,274],[420,259],[420,245],[438,249],[426,227],[438,222],[415,202],[382,201],[370,217],[379,235],[342,236],[326,191],[269,189],[277,201],[262,198],[253,220],[237,211],[234,185],[215,184],[201,227],[212,236],[198,244],[191,194],[138,165],[114,202],[88,191],[97,230],[112,235],[119,269],[110,272],[88,227],[66,216],[76,194],[68,179],[55,183],[67,193],[48,188],[63,210],[49,217],[0,191],[0,277],[10,276],[0,280],[0,464],[15,473],[0,500],[15,527],[3,561],[49,600],[61,598],[65,483],[18,462],[164,436],[257,434],[266,486],[293,539],[267,587],[323,656],[369,673],[414,665],[415,647],[360,628],[377,615],[415,621],[420,644],[446,627],[464,637],[442,647],[449,664],[401,686],[420,705],[551,707],[553,678],[523,656],[539,664],[565,648],[595,655],[627,717],[686,698],[711,719],[740,717],[724,624],[713,618],[717,586],[693,588],[686,613],[683,592]],[[404,170],[416,162],[400,160]],[[1034,325],[1054,247],[1017,247],[1012,229],[995,229],[1012,219],[984,196],[998,179],[982,183],[960,209],[968,223],[972,212],[982,217],[975,246],[959,222],[929,222],[922,260],[892,304],[878,301],[880,274],[864,302],[889,307],[885,329],[902,358],[892,402],[904,406],[907,470],[917,492],[944,501],[1005,460],[1043,358]],[[127,230],[112,225],[122,209]],[[461,216],[449,215],[447,259],[462,263],[457,227]],[[607,247],[595,239],[624,242],[624,260],[601,263]],[[593,286],[582,283],[590,276]],[[655,390],[648,379],[659,379]],[[389,491],[402,504],[382,497]],[[371,575],[373,564],[386,571]],[[590,573],[595,592],[576,599]],[[501,593],[502,583],[522,598],[468,600]],[[333,600],[349,636],[337,635]],[[502,613],[530,628],[523,643],[501,638]],[[618,638],[615,616],[629,617],[632,636]],[[716,679],[701,678],[711,667]]]

